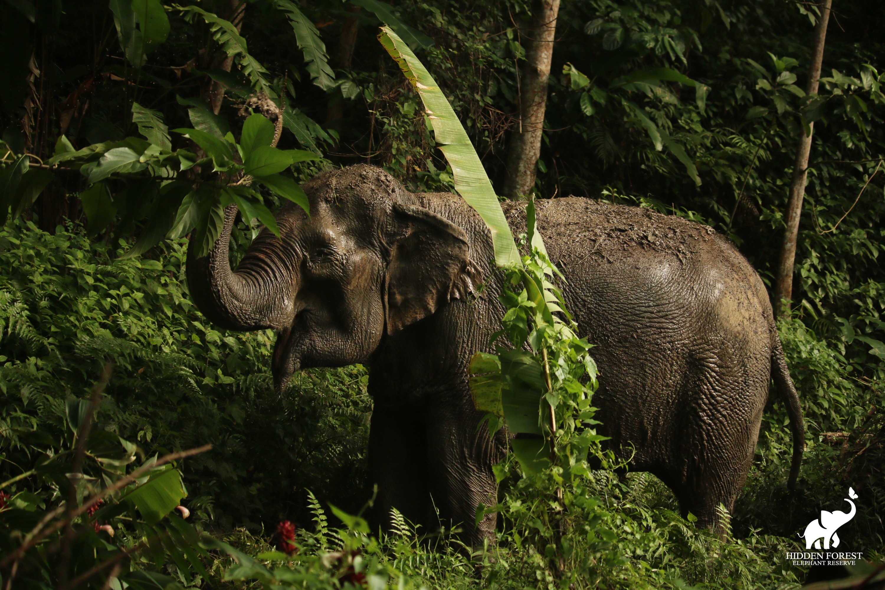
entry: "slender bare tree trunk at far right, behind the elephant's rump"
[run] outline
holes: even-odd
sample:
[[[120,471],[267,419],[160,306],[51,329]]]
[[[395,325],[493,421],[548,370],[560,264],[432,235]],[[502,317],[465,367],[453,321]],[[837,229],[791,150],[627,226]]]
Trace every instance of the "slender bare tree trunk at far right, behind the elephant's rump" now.
[[[815,29],[812,66],[808,73],[806,94],[817,94],[820,83],[820,66],[824,60],[824,41],[827,38],[827,22],[833,0],[820,3],[820,19]],[[805,197],[805,182],[808,178],[808,156],[812,151],[812,133],[814,123],[809,123],[808,135],[799,139],[796,151],[796,163],[793,166],[793,182],[789,187],[787,203],[787,231],[781,245],[781,260],[778,263],[776,283],[774,284],[774,314],[781,315],[789,311],[789,299],[793,297],[793,265],[796,262],[796,243],[799,234],[799,219],[802,216],[802,201]]]

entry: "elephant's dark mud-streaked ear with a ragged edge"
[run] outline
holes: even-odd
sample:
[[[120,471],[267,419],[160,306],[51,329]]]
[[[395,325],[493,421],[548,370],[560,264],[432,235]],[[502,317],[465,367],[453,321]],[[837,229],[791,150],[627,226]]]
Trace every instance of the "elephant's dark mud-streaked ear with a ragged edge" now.
[[[393,244],[387,274],[385,313],[393,334],[433,314],[468,260],[464,231],[419,206],[393,206]]]

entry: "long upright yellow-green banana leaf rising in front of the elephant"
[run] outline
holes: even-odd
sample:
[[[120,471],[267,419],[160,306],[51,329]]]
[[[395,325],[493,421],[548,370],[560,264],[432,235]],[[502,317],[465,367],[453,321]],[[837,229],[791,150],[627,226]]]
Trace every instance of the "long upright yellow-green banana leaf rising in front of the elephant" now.
[[[510,226],[504,218],[489,176],[443,91],[409,46],[390,27],[381,27],[378,39],[418,91],[436,141],[443,144],[440,149],[449,160],[455,177],[455,189],[468,205],[480,213],[489,227],[496,264],[501,267],[521,266],[519,251],[513,243]]]

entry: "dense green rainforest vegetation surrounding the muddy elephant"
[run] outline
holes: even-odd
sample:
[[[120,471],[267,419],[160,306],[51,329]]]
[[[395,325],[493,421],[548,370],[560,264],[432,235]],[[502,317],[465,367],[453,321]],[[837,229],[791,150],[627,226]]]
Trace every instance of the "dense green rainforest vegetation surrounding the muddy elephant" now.
[[[682,519],[656,478],[609,472],[593,485],[611,527],[564,550],[582,555],[577,582],[563,574],[565,558],[551,557],[560,549],[514,532],[472,550],[406,523],[370,534],[349,516],[373,495],[367,369],[302,371],[278,395],[273,332],[219,330],[189,301],[188,240],[211,245],[223,206],[250,213],[235,228],[236,255],[285,199],[299,202],[296,182],[327,167],[369,163],[410,190],[453,189],[419,98],[376,39],[382,23],[434,74],[509,196],[531,44],[549,4],[0,1],[2,553],[127,465],[212,445],[179,457],[177,471],[150,468],[150,482],[181,472],[187,510],[151,518],[142,493],[137,512],[70,512],[57,540],[0,564],[4,587],[797,587],[823,574],[809,578],[785,552],[804,549],[797,533],[849,486],[858,514],[840,529],[839,550],[881,563],[881,3],[835,0],[816,96],[804,88],[817,4],[558,7],[540,152],[519,194],[707,224],[773,292],[797,146],[813,122],[791,306],[779,316],[805,415],[802,475],[789,491],[789,426],[773,389],[728,540]],[[258,133],[244,127],[252,113],[281,133],[265,154],[279,177],[260,176],[243,149]],[[189,192],[242,169],[261,188]],[[187,521],[174,516],[185,512]],[[112,518],[129,528],[101,532]],[[202,532],[225,544],[189,545]],[[287,563],[286,539],[300,561],[267,569]],[[835,577],[875,575],[865,567]]]

